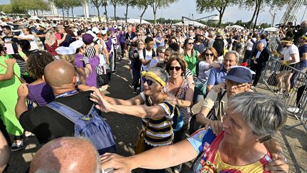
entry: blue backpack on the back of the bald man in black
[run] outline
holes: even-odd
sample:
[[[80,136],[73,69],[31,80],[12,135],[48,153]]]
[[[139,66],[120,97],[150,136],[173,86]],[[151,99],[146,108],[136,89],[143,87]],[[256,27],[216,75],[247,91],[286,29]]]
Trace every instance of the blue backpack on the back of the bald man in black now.
[[[92,105],[87,115],[73,110],[67,105],[58,102],[51,102],[49,108],[63,115],[75,124],[75,137],[86,137],[95,145],[99,155],[105,152],[115,152],[116,145],[111,128],[107,122],[98,115],[95,105]]]

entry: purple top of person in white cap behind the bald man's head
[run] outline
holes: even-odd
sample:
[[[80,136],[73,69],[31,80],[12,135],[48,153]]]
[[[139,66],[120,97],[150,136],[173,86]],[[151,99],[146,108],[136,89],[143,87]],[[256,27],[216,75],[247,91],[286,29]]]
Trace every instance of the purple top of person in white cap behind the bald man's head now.
[[[80,59],[83,59],[83,55],[76,54],[75,55],[75,66],[77,68],[85,68],[84,61],[80,61]],[[92,58],[89,58],[89,63],[92,66],[92,73],[90,73],[90,75],[86,78],[85,84],[87,86],[97,87],[97,72],[95,68],[97,67],[97,65],[99,65],[99,56],[94,56]]]

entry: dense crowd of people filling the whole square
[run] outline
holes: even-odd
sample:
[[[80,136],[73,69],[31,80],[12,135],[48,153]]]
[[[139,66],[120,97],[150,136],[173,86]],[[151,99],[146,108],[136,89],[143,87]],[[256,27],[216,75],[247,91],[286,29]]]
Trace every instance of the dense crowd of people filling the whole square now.
[[[207,26],[0,22],[0,172],[10,150],[23,150],[30,137],[43,147],[29,172],[181,172],[195,158],[191,172],[289,171],[274,139],[286,122],[285,106],[255,88],[271,54],[285,67],[306,68],[307,21],[301,28],[287,23],[274,39],[262,30]],[[102,93],[123,59],[134,94],[128,100]],[[289,95],[293,73],[280,70],[276,92]],[[200,112],[192,112],[202,99]],[[112,130],[99,112],[141,117],[141,153],[115,154]],[[82,123],[98,123],[99,140]]]

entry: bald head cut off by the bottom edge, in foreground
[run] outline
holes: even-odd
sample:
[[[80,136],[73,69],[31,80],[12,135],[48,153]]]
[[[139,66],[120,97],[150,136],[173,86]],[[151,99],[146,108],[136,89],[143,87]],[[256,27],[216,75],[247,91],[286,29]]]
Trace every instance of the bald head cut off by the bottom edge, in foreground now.
[[[94,145],[80,137],[61,137],[41,147],[33,157],[30,173],[85,172],[100,170]]]

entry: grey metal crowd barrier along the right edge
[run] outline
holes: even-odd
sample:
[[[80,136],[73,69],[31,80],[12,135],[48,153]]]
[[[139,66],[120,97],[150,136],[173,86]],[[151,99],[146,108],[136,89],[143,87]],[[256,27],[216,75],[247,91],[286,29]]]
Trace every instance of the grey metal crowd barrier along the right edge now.
[[[287,83],[289,80],[286,80],[285,77],[280,78],[284,73],[292,74],[290,83]],[[276,80],[277,77],[280,79],[279,81],[281,81],[280,85],[279,81]],[[307,131],[307,74],[290,65],[282,65],[279,59],[270,57],[264,69],[263,83],[277,98],[284,101],[287,112],[299,120],[298,124],[286,127],[286,129],[303,125]],[[291,85],[289,91],[285,90],[286,83],[287,85]],[[281,86],[281,90],[278,85]]]

